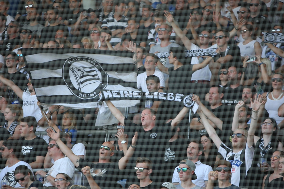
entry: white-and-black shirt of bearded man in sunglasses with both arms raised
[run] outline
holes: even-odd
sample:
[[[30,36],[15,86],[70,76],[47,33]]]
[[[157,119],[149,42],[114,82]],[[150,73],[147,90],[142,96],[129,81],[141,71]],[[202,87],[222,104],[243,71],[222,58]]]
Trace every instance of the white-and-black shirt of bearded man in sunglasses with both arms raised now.
[[[222,143],[222,145],[226,147],[226,145],[224,143]],[[241,165],[243,163],[241,161],[241,153],[244,149],[235,153],[234,160],[228,160],[228,158],[230,156],[232,156],[232,154],[234,154],[234,153],[232,151],[228,152],[230,150],[230,148],[223,148],[222,145],[220,146],[218,152],[223,156],[224,159],[231,162],[231,165],[232,165],[231,184],[239,186]],[[251,168],[251,163],[253,161],[254,148],[253,148],[253,146],[248,148],[248,143],[246,143],[246,149],[245,150],[246,150],[245,151],[245,159],[246,159],[245,163],[246,163],[246,175],[247,175],[248,169]]]

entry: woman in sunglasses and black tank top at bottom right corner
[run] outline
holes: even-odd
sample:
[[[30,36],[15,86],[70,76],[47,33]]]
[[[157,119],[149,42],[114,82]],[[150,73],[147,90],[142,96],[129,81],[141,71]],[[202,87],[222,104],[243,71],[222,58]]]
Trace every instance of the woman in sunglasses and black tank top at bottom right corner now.
[[[279,174],[279,169],[278,169],[281,152],[282,151],[277,150],[272,154],[272,156],[269,157],[270,165],[274,172],[264,176],[262,181],[262,189],[273,189],[273,188],[284,187],[283,176]]]

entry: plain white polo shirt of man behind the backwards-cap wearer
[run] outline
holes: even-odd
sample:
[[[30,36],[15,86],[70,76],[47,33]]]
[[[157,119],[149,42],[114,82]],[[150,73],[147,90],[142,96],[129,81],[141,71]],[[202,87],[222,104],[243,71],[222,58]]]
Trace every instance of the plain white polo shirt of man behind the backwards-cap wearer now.
[[[209,165],[205,165],[204,163],[201,163],[200,161],[197,161],[196,163],[194,163],[196,168],[195,168],[195,174],[197,176],[197,179],[192,180],[192,183],[194,183],[197,186],[200,186],[202,188],[205,188],[205,182],[204,181],[208,181],[208,174],[210,171],[212,170],[212,167],[210,167]],[[173,172],[173,179],[172,179],[172,183],[182,183],[180,181],[180,177],[178,176],[178,172],[177,172],[177,168],[178,166],[175,168],[174,172]]]

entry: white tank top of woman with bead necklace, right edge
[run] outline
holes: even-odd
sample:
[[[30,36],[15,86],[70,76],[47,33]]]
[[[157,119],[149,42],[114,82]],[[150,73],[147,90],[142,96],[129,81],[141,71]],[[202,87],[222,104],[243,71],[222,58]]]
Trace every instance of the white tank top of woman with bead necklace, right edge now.
[[[277,125],[284,119],[278,116],[278,108],[284,103],[284,97],[279,100],[271,100],[268,98],[267,93],[267,102],[265,103],[265,109],[267,110],[269,117],[276,120]]]

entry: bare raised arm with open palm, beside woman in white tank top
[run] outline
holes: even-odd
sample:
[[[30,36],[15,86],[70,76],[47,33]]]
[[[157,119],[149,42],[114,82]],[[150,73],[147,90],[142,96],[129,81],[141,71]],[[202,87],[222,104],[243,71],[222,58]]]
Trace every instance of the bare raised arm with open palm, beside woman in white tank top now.
[[[248,129],[248,139],[247,139],[247,143],[248,143],[248,147],[250,148],[253,143],[254,143],[254,134],[257,128],[257,120],[258,120],[258,110],[260,108],[260,106],[264,103],[264,101],[262,101],[260,103],[261,100],[261,95],[256,96],[255,95],[255,99],[253,102],[253,99],[251,98],[251,110],[252,110],[252,114],[251,114],[251,125]]]

